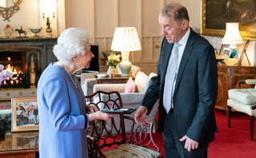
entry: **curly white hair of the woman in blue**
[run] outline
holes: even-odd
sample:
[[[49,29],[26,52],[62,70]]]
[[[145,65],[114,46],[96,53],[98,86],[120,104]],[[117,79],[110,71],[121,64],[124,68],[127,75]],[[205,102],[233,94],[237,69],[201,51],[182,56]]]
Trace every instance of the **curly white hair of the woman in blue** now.
[[[75,55],[84,55],[84,46],[89,42],[87,30],[81,28],[68,28],[64,30],[53,47],[53,53],[59,61],[70,64]]]

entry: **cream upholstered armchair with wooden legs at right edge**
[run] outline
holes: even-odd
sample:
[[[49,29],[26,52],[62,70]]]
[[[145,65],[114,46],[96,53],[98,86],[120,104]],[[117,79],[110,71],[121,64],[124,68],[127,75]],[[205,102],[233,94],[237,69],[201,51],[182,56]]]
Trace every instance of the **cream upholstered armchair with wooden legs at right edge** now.
[[[254,89],[241,89],[242,84],[255,85]],[[256,116],[256,79],[238,82],[239,89],[229,90],[227,101],[228,127],[230,128],[231,108],[250,116],[250,140],[254,140],[254,116]]]

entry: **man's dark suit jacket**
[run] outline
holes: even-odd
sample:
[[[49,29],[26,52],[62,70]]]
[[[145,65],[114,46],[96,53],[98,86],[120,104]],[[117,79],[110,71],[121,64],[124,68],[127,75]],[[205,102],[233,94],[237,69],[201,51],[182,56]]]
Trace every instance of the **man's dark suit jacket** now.
[[[173,125],[176,125],[179,138],[187,135],[199,143],[209,144],[214,140],[214,132],[217,132],[214,116],[217,99],[217,62],[213,46],[209,41],[190,30],[173,93],[173,115],[176,120],[176,124]],[[159,132],[163,131],[165,123],[163,93],[172,49],[173,44],[169,44],[164,38],[157,65],[157,76],[152,77],[142,101],[142,105],[150,113],[152,106],[160,98]]]

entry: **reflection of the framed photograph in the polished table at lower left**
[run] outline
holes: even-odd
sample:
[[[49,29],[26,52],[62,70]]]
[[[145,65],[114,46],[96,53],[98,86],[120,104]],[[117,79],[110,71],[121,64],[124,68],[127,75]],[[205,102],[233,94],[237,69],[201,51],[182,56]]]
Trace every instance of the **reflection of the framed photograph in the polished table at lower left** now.
[[[39,132],[17,132],[12,133],[12,148],[14,150],[22,149],[38,149],[39,148]]]

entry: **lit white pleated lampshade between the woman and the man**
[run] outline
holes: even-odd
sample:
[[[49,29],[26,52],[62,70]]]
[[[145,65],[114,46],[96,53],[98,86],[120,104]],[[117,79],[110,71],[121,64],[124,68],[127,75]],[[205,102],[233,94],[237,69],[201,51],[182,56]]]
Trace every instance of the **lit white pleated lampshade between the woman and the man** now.
[[[135,27],[116,27],[113,37],[112,50],[136,51],[140,50],[140,39]]]

